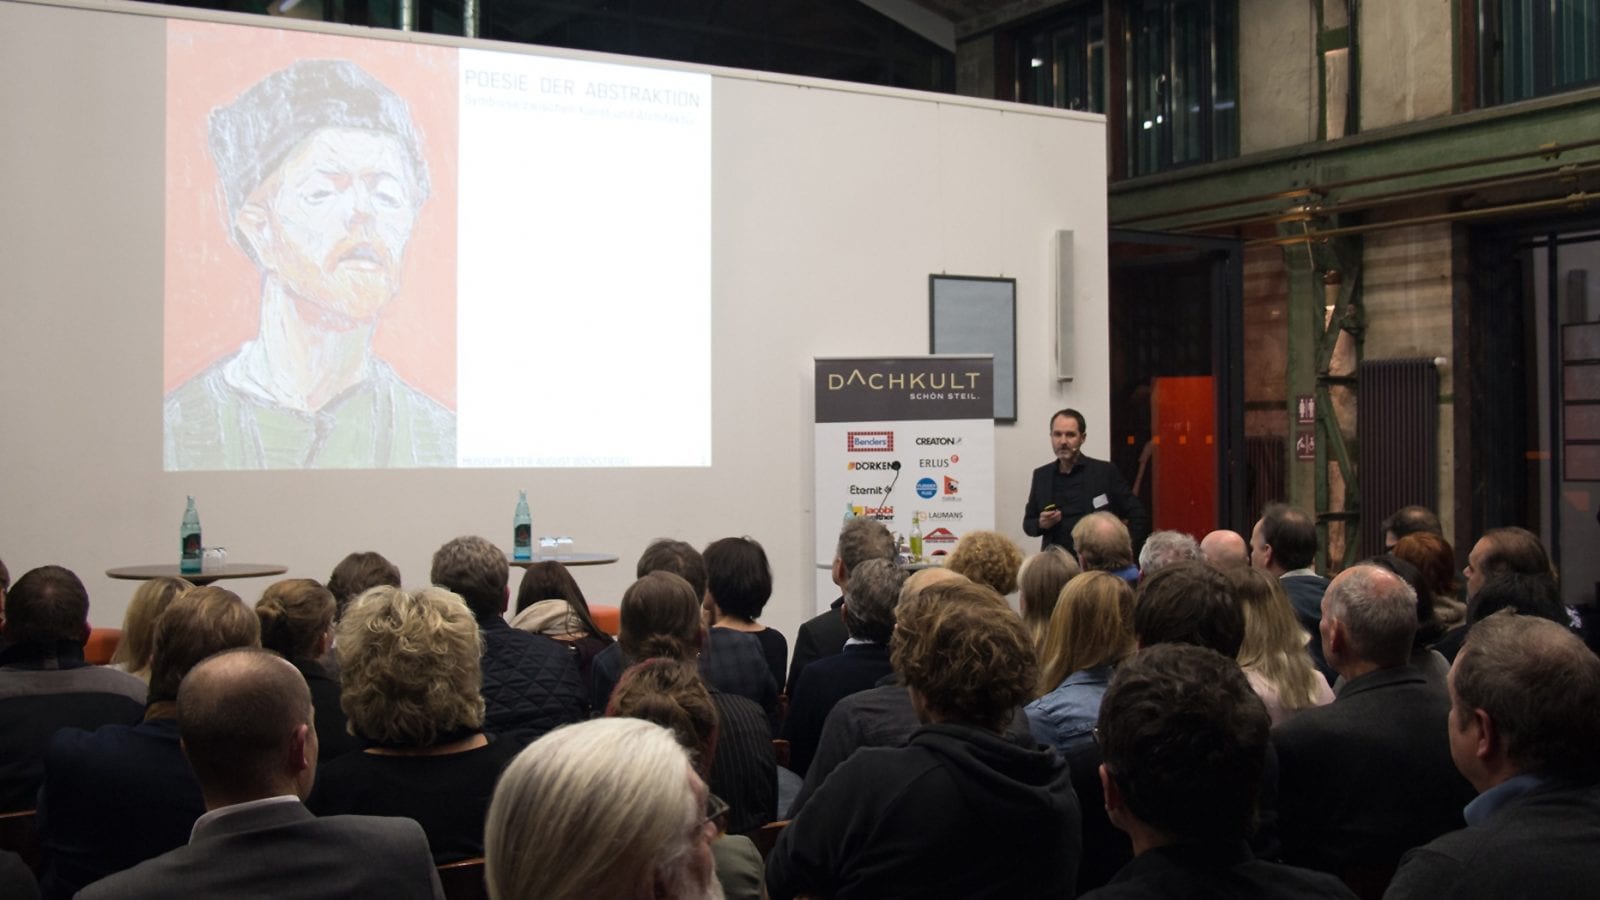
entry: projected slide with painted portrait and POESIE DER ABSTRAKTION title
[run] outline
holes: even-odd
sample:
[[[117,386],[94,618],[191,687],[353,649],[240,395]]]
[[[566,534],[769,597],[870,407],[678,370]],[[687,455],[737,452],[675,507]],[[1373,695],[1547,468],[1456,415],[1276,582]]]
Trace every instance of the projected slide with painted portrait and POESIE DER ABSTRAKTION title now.
[[[168,24],[165,466],[710,464],[710,78]]]

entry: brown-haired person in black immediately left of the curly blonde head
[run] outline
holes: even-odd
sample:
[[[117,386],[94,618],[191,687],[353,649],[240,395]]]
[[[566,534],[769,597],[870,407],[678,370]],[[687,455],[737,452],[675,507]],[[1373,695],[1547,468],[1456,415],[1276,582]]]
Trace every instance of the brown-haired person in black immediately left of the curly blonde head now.
[[[328,762],[360,749],[339,708],[339,679],[328,674],[322,658],[333,647],[333,593],[310,578],[285,578],[267,585],[256,601],[261,645],[290,661],[310,689],[317,709],[317,762]]]

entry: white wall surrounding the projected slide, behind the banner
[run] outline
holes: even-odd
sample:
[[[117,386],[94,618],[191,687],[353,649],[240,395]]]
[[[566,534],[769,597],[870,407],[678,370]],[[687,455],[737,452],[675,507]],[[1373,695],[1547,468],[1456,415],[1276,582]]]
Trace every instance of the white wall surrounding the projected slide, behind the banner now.
[[[794,634],[816,602],[811,357],[926,352],[931,272],[1018,279],[1021,418],[997,429],[997,520],[1024,548],[1048,415],[1075,405],[1091,423],[1109,418],[1099,117],[712,70],[712,468],[163,472],[157,13],[269,24],[0,0],[0,559],[13,577],[46,562],[77,570],[96,625],[117,625],[133,589],[107,567],[176,559],[186,493],[206,544],[234,560],[320,580],[346,552],[378,549],[421,585],[454,535],[509,544],[517,488],[528,488],[534,533],[622,557],[578,570],[592,601],[621,596],[654,536],[752,535],[776,580],[763,618]],[[1078,376],[1062,386],[1051,376],[1058,229],[1075,231],[1078,285]],[[638,402],[664,389],[640,384]],[[538,415],[536,394],[523,415]],[[1104,456],[1106,429],[1091,434]],[[229,586],[254,602],[266,581]]]

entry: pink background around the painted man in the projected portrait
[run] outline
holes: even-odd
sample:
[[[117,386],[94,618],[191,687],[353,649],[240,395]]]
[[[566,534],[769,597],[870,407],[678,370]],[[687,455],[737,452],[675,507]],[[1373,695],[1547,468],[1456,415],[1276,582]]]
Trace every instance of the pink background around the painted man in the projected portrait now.
[[[400,295],[373,338],[400,378],[456,405],[456,51],[206,22],[166,30],[166,319],[163,392],[258,327],[261,274],[224,223],[206,117],[296,59],[349,59],[405,98],[432,191],[406,247]]]

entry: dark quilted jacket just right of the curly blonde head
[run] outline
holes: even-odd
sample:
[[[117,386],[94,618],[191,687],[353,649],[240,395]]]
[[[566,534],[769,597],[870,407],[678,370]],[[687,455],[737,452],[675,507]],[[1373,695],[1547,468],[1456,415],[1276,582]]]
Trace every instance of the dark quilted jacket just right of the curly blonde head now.
[[[483,636],[483,730],[531,743],[589,717],[589,697],[573,653],[544,634],[528,634],[499,615],[480,617]]]

